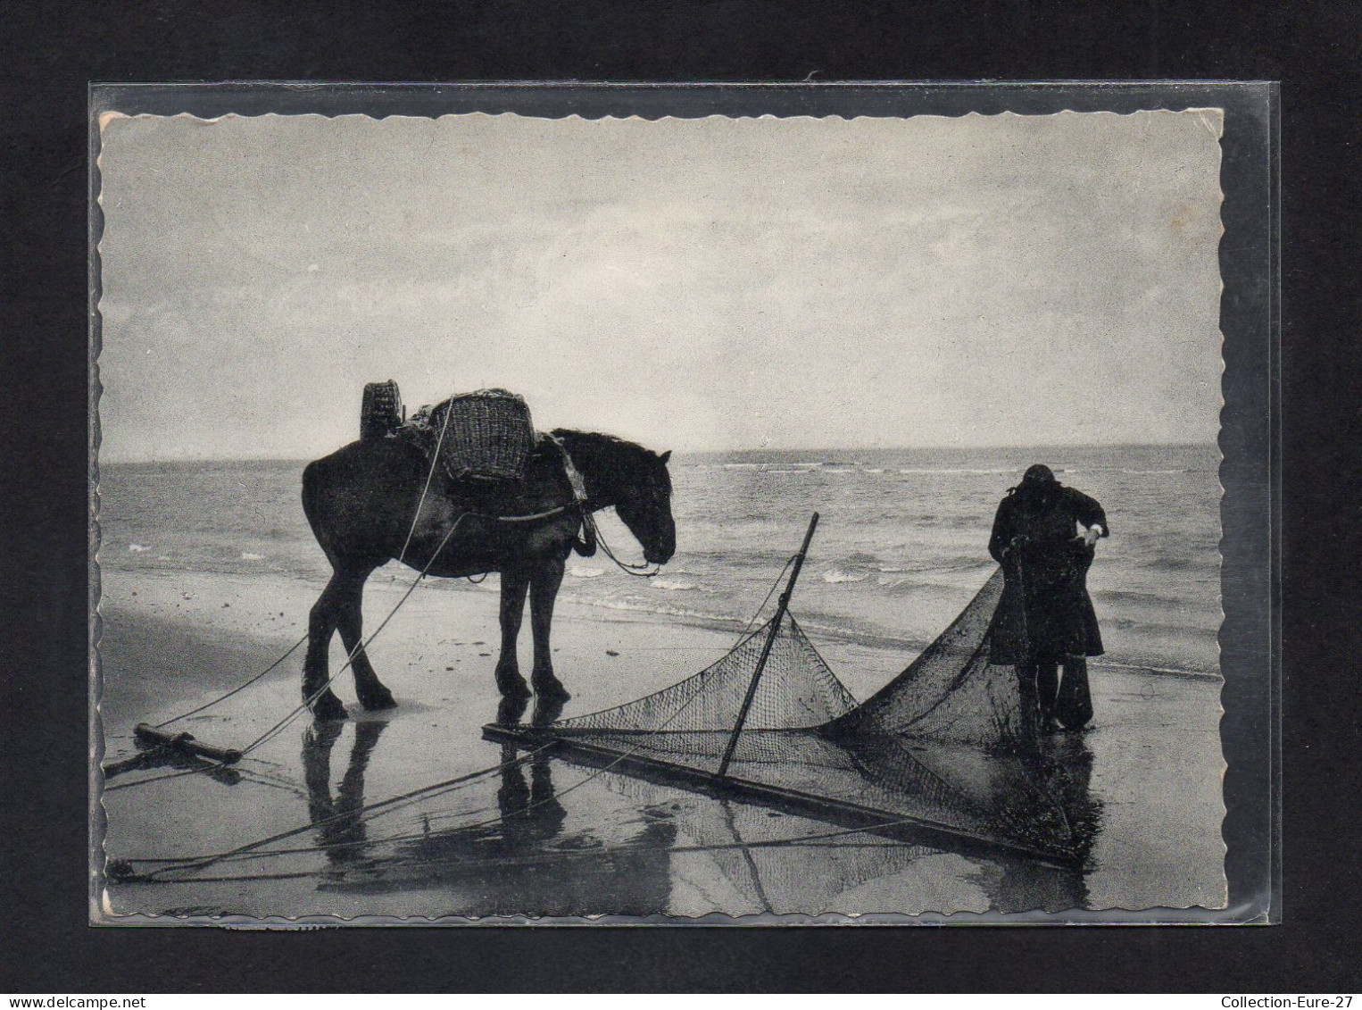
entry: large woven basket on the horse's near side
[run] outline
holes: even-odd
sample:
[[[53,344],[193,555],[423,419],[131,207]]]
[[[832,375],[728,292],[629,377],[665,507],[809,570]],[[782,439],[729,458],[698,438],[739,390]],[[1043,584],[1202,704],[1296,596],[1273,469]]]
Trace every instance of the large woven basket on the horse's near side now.
[[[448,413],[448,428],[445,428]],[[430,416],[444,429],[440,462],[454,480],[522,480],[534,450],[534,423],[523,398],[505,390],[451,397]]]

